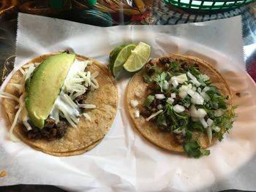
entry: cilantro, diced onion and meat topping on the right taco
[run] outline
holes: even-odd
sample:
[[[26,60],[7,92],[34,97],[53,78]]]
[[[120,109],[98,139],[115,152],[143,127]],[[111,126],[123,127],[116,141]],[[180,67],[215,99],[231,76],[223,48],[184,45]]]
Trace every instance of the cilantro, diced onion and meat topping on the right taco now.
[[[217,90],[197,64],[160,58],[148,61],[145,69],[143,80],[148,87],[140,115],[173,134],[187,155],[208,155],[210,151],[200,147],[198,135],[206,134],[209,143],[213,137],[221,141],[232,128],[235,107],[227,105],[228,96]],[[135,118],[139,117],[136,110]]]

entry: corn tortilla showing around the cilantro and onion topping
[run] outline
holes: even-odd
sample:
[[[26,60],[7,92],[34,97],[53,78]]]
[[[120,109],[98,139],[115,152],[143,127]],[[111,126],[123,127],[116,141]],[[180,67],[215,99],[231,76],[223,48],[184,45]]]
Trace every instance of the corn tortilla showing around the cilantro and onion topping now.
[[[208,64],[208,62],[203,61],[200,58],[195,58],[193,56],[187,55],[170,55],[165,58],[171,58],[173,59],[173,61],[187,61],[187,64],[189,65],[198,64],[199,71],[202,74],[208,75],[211,82],[213,82],[212,85],[216,86],[219,92],[222,93],[222,95],[229,96],[230,99],[227,100],[227,106],[231,107],[231,92],[227,85],[227,82],[225,82],[222,75],[219,74],[219,72],[217,72],[217,70],[214,69],[214,67],[211,66],[211,64]],[[175,138],[173,137],[173,134],[170,134],[166,131],[161,131],[159,128],[157,128],[157,126],[154,123],[152,123],[151,121],[146,121],[146,118],[143,118],[143,116],[141,115],[140,118],[135,118],[135,109],[130,104],[131,100],[135,99],[139,102],[139,106],[143,106],[146,96],[148,96],[148,93],[146,91],[148,83],[144,82],[143,80],[144,72],[145,71],[143,69],[137,74],[135,74],[130,80],[129,85],[127,87],[126,108],[129,117],[132,120],[132,123],[135,126],[135,128],[140,132],[140,134],[143,135],[143,137],[148,139],[149,142],[152,142],[155,145],[162,147],[166,150],[184,152],[182,145],[178,145],[178,143],[175,141]],[[136,92],[140,93],[140,97],[136,96]],[[200,146],[203,148],[209,147],[215,141],[217,141],[217,137],[213,137],[210,144],[208,142],[207,135],[199,134],[198,132],[194,132],[193,137],[198,138]]]

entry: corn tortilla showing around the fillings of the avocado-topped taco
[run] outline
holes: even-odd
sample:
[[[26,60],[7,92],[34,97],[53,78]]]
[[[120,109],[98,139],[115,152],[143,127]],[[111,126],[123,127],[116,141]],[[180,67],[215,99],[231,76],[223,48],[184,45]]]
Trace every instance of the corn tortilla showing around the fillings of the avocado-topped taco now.
[[[45,58],[53,54],[56,53],[41,55],[29,61],[28,64],[41,63]],[[78,61],[92,60],[82,55],[76,55],[76,58]],[[56,156],[78,155],[95,147],[105,137],[105,134],[108,133],[112,126],[117,110],[118,93],[116,81],[113,79],[108,68],[98,61],[92,61],[93,64],[87,66],[87,69],[91,73],[99,72],[97,77],[99,88],[95,91],[90,91],[86,99],[86,102],[89,104],[95,104],[97,106],[94,110],[86,111],[89,113],[91,121],[81,116],[80,122],[77,124],[78,128],[68,126],[67,133],[64,137],[50,141],[45,139],[28,139],[26,133],[23,131],[23,125],[19,123],[14,128],[14,134],[34,149]],[[8,82],[5,92],[19,97],[18,90],[10,85],[10,83],[19,83],[21,79],[22,74],[18,70],[13,74],[10,82]],[[17,102],[10,99],[3,99],[3,105],[10,123],[12,123],[17,112],[15,110]]]

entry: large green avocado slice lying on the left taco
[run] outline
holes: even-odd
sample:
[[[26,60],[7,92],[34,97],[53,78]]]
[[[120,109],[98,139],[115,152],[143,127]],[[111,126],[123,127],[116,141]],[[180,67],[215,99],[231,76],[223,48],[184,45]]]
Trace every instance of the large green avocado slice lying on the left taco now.
[[[74,61],[74,54],[52,55],[37,66],[26,82],[26,110],[34,126],[45,126],[45,119],[48,118]]]

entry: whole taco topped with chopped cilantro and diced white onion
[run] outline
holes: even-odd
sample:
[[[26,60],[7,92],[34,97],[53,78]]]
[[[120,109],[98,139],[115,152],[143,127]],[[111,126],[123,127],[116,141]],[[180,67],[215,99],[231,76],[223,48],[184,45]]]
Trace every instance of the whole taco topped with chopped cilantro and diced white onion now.
[[[198,158],[232,128],[230,89],[211,64],[187,55],[153,58],[132,77],[127,111],[135,128],[166,150]]]

